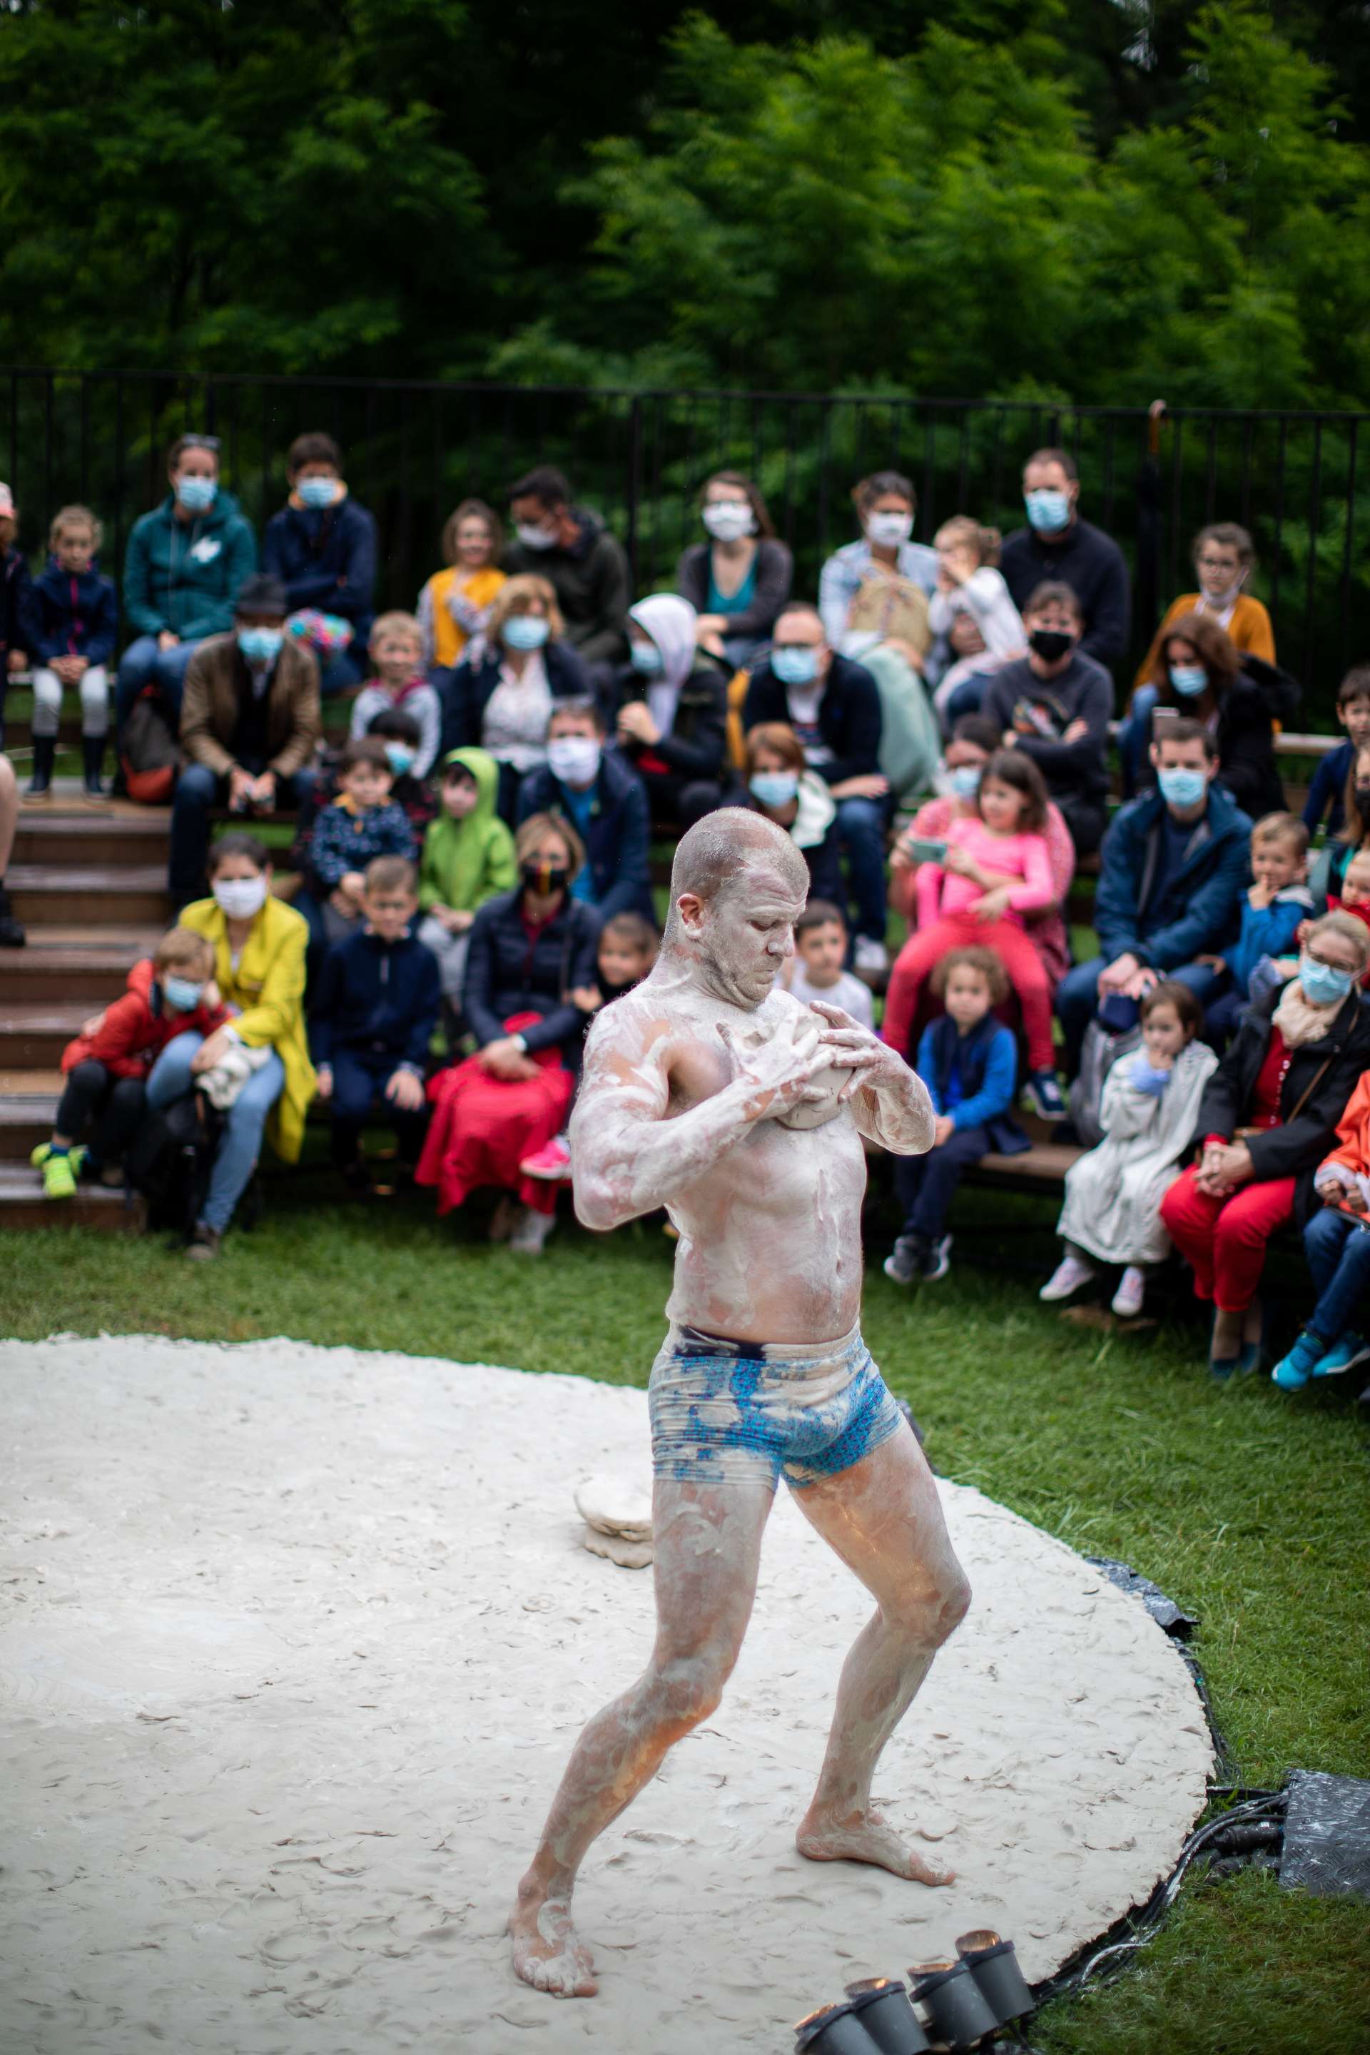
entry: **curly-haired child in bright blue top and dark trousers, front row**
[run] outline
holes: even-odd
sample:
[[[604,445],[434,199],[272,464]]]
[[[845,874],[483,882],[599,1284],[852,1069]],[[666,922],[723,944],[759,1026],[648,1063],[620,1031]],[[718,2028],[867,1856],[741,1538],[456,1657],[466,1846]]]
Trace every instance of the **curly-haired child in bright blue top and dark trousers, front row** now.
[[[933,972],[933,991],[947,1007],[924,1030],[914,1069],[937,1114],[926,1155],[896,1157],[893,1186],[904,1206],[904,1231],[885,1258],[896,1284],[947,1276],[951,1235],[947,1215],[963,1171],[996,1149],[1021,1155],[1029,1143],[1013,1118],[1017,1048],[992,1007],[1009,991],[992,949],[949,949]]]

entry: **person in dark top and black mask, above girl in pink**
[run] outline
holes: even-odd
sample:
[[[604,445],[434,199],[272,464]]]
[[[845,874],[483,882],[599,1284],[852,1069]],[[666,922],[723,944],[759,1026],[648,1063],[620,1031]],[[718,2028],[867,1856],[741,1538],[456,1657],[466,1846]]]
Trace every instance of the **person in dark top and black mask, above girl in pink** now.
[[[1070,586],[1037,586],[1023,608],[1023,627],[1027,656],[994,672],[980,711],[1009,748],[1033,758],[1076,857],[1089,857],[1109,818],[1113,680],[1084,656],[1084,616]]]

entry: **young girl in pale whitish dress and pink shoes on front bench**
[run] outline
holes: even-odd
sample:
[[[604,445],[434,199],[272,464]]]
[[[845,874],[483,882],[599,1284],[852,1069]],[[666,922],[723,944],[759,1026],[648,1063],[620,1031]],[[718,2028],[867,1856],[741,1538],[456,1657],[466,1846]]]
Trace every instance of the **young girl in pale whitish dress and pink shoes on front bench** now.
[[[1142,999],[1142,1048],[1119,1056],[1103,1085],[1103,1141],[1066,1171],[1056,1227],[1066,1254],[1037,1295],[1048,1303],[1089,1284],[1101,1262],[1126,1266],[1113,1311],[1124,1319],[1142,1311],[1146,1266],[1171,1254],[1160,1200],[1218,1069],[1212,1048],[1193,1040],[1202,1023],[1197,999],[1177,978],[1152,984]]]

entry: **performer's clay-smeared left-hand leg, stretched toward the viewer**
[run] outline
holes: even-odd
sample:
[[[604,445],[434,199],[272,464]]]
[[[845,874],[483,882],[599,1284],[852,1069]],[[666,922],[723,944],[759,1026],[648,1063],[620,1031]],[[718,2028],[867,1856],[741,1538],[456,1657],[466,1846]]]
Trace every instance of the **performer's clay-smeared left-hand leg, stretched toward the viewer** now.
[[[639,1681],[598,1712],[575,1743],[538,1852],[509,1913],[513,1969],[555,1997],[598,1989],[571,1923],[585,1850],[707,1720],[723,1695],[752,1617],[770,1486],[657,1478],[651,1510],[657,1642]]]

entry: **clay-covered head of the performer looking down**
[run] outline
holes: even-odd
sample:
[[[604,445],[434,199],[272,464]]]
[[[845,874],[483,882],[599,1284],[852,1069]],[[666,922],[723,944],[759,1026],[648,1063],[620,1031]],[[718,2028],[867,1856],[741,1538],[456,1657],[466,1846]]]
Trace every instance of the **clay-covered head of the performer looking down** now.
[[[663,956],[717,999],[754,1013],[795,954],[807,896],[809,867],[785,828],[723,806],[676,847]]]

